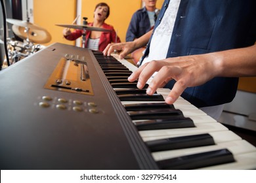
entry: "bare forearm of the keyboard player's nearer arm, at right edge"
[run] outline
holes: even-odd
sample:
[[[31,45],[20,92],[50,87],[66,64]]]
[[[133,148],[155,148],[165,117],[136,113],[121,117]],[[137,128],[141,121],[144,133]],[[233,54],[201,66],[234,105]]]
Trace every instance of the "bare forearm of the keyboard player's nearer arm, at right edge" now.
[[[216,76],[255,76],[256,45],[247,48],[215,52],[214,67]]]

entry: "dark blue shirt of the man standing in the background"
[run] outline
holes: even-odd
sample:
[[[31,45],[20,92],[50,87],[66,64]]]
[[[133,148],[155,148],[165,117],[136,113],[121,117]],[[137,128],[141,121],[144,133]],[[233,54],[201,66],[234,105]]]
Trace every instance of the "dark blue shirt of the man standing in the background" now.
[[[148,31],[150,31],[150,20],[148,18],[148,12],[146,8],[137,10],[133,17],[126,32],[125,40],[133,41],[135,38],[139,38]]]

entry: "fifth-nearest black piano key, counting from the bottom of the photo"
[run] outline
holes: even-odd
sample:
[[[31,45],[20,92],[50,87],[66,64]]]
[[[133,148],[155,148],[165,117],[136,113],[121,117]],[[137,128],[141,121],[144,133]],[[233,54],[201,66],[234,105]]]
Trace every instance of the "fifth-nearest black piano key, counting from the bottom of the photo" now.
[[[127,111],[138,111],[138,110],[154,110],[160,108],[175,108],[174,105],[167,103],[136,103],[123,105]]]

